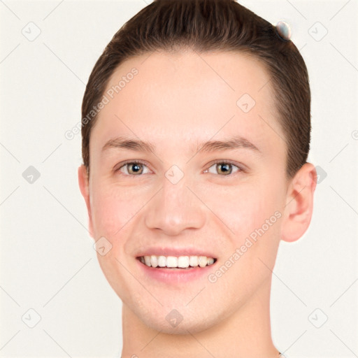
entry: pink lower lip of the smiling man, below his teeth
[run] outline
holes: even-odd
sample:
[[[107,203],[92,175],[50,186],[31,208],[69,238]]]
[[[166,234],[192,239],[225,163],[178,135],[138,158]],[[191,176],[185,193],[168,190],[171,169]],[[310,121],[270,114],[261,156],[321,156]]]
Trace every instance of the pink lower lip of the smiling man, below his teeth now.
[[[136,259],[136,261],[145,275],[165,283],[190,282],[198,280],[199,278],[208,277],[210,271],[213,270],[213,266],[217,263],[216,261],[214,264],[205,267],[164,268],[159,266],[147,266],[138,259]]]

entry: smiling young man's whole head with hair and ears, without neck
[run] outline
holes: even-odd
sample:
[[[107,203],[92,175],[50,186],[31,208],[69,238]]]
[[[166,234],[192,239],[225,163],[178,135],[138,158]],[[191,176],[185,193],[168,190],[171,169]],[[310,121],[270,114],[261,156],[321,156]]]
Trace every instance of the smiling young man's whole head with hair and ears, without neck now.
[[[308,228],[315,189],[308,73],[292,41],[235,1],[156,0],[106,46],[82,115],[90,233],[109,243],[103,273],[140,320],[199,331],[269,287],[280,240]],[[215,264],[164,284],[138,260],[160,248]],[[175,329],[172,309],[184,317]]]

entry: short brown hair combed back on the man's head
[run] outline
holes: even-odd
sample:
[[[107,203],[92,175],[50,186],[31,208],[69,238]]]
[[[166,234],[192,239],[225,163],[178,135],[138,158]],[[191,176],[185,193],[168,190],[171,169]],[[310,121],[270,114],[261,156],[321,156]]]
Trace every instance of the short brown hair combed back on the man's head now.
[[[278,122],[287,146],[287,178],[310,150],[310,85],[303,58],[276,27],[234,0],[155,0],[117,31],[94,65],[82,103],[82,155],[90,173],[90,134],[108,79],[132,56],[156,50],[237,51],[251,55],[270,76]]]

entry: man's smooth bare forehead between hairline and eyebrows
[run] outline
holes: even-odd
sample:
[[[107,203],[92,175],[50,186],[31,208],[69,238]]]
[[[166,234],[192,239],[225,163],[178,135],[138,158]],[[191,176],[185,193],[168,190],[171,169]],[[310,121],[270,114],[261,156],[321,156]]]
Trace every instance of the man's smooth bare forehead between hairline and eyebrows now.
[[[104,95],[108,103],[91,134],[94,150],[123,134],[166,148],[232,134],[262,150],[282,145],[268,73],[238,52],[131,57],[110,77]]]

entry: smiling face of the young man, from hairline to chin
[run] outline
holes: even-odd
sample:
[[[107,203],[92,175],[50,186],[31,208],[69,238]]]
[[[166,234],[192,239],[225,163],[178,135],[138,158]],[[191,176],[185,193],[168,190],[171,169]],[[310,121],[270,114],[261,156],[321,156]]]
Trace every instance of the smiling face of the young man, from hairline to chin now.
[[[99,263],[148,327],[200,331],[250,301],[275,264],[288,184],[269,76],[234,52],[131,58],[107,90],[123,76],[90,137],[90,231],[111,247]],[[148,267],[150,255],[189,267]],[[190,268],[191,256],[214,260]]]

